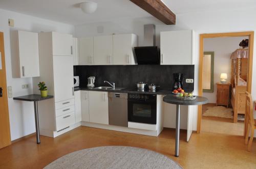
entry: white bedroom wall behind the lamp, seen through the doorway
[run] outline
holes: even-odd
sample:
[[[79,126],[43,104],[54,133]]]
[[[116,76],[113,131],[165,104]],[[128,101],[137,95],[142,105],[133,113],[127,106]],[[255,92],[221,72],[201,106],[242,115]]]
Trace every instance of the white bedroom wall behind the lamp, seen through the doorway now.
[[[220,82],[221,73],[227,73],[227,82],[231,78],[231,53],[238,49],[239,43],[248,37],[221,37],[204,39],[204,51],[214,51],[214,92],[204,92],[203,96],[209,103],[216,103],[217,82]]]

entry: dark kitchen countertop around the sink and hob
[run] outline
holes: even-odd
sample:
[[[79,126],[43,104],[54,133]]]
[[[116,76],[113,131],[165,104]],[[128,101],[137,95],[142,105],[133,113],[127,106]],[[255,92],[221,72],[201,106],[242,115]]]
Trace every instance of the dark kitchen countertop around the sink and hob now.
[[[96,88],[96,87],[95,87]],[[95,89],[95,88],[88,88],[88,87],[75,87],[75,91],[101,91],[101,92],[117,92],[117,93],[139,93],[139,94],[156,94],[156,95],[173,95],[173,90],[172,89],[159,89],[156,92],[149,92],[149,91],[137,91],[135,88],[130,89],[130,88],[116,88],[115,90],[113,89]],[[121,90],[117,90],[121,89]],[[185,90],[185,92],[191,93],[193,91],[191,90]]]

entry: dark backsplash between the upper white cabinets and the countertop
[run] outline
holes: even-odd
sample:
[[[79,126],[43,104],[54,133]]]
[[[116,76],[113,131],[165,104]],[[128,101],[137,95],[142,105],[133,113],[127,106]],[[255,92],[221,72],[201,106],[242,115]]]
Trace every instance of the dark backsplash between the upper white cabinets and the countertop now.
[[[79,76],[80,87],[87,86],[87,78],[95,76],[95,86],[109,86],[104,80],[115,82],[116,87],[136,88],[139,81],[155,83],[161,89],[173,87],[173,73],[183,73],[183,87],[194,90],[194,83],[186,83],[186,78],[194,79],[194,65],[106,65],[74,66],[74,76]]]

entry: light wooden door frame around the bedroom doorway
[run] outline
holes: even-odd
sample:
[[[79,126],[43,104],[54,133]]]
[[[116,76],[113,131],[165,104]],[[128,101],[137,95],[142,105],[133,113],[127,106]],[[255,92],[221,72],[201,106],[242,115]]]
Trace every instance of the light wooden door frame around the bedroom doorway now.
[[[253,60],[253,38],[254,32],[234,32],[234,33],[215,33],[215,34],[200,34],[199,44],[199,83],[198,83],[198,95],[203,95],[203,53],[204,53],[204,39],[206,38],[220,38],[220,37],[249,37],[249,62],[247,70],[247,87],[246,91],[251,93],[251,81],[252,81],[252,60]],[[197,117],[197,133],[201,132],[202,123],[202,105],[198,106]]]

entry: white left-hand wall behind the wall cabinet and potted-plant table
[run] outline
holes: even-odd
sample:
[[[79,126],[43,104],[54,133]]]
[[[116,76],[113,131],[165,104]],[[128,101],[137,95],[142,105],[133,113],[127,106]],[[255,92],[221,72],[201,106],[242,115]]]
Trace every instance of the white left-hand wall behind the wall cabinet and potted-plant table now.
[[[8,19],[14,19],[14,27],[8,26]],[[31,32],[62,32],[73,34],[74,26],[40,19],[20,13],[0,9],[0,32],[4,32],[7,86],[12,86],[13,97],[32,94],[32,78],[12,78],[10,31],[26,30]],[[29,84],[29,89],[22,85]],[[11,139],[17,139],[35,132],[33,102],[8,99]]]

